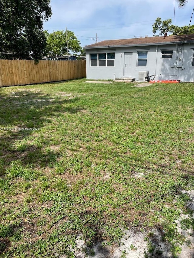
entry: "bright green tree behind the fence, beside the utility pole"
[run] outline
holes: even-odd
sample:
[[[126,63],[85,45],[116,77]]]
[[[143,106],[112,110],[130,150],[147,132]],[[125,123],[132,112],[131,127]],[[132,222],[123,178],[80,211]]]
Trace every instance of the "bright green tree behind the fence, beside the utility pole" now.
[[[66,31],[54,31],[53,33],[44,31],[44,33],[47,39],[45,56],[51,60],[57,60],[59,56],[67,54]],[[72,53],[81,51],[80,41],[72,31],[67,31],[67,40],[69,51]]]

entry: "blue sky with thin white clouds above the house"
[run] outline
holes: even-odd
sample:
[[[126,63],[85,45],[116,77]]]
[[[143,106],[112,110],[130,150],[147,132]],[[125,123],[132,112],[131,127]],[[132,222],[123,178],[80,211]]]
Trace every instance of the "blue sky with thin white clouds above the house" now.
[[[98,41],[153,36],[152,24],[157,17],[174,20],[173,0],[52,0],[52,17],[44,23],[44,30],[73,31],[82,46]],[[175,0],[176,25],[188,25],[193,0],[179,8]],[[191,24],[194,24],[194,17]],[[91,39],[93,38],[93,39]]]

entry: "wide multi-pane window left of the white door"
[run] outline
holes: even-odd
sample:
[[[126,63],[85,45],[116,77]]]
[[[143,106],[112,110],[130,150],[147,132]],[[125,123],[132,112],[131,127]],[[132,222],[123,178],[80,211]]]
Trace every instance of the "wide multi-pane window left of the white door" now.
[[[115,53],[90,54],[90,66],[115,66]]]

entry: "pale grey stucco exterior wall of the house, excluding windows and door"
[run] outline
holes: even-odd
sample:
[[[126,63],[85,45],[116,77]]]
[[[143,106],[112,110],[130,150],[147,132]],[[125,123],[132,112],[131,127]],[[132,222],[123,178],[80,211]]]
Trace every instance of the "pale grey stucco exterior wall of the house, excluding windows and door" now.
[[[177,45],[179,46],[179,44]],[[162,50],[173,50],[172,58],[162,58]],[[124,76],[124,59],[125,52],[132,52],[131,56],[131,78],[138,80],[139,71],[149,71],[150,79],[156,75],[154,80],[181,80],[194,82],[194,67],[192,67],[192,57],[194,50],[194,43],[184,44],[182,52],[178,52],[178,65],[176,64],[176,44],[153,45],[153,46],[136,46],[136,47],[116,47],[114,50],[105,48],[101,49],[86,49],[86,74],[88,79],[114,79],[123,78]],[[146,67],[137,66],[138,51],[147,51],[147,65]],[[91,67],[90,54],[95,53],[115,53],[114,67]],[[181,60],[179,60],[179,58]]]

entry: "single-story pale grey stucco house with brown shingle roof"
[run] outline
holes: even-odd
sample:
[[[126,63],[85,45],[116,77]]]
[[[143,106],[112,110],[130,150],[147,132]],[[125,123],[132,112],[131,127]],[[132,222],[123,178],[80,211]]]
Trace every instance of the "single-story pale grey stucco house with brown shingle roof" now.
[[[84,48],[88,79],[194,82],[194,34],[106,40]]]

